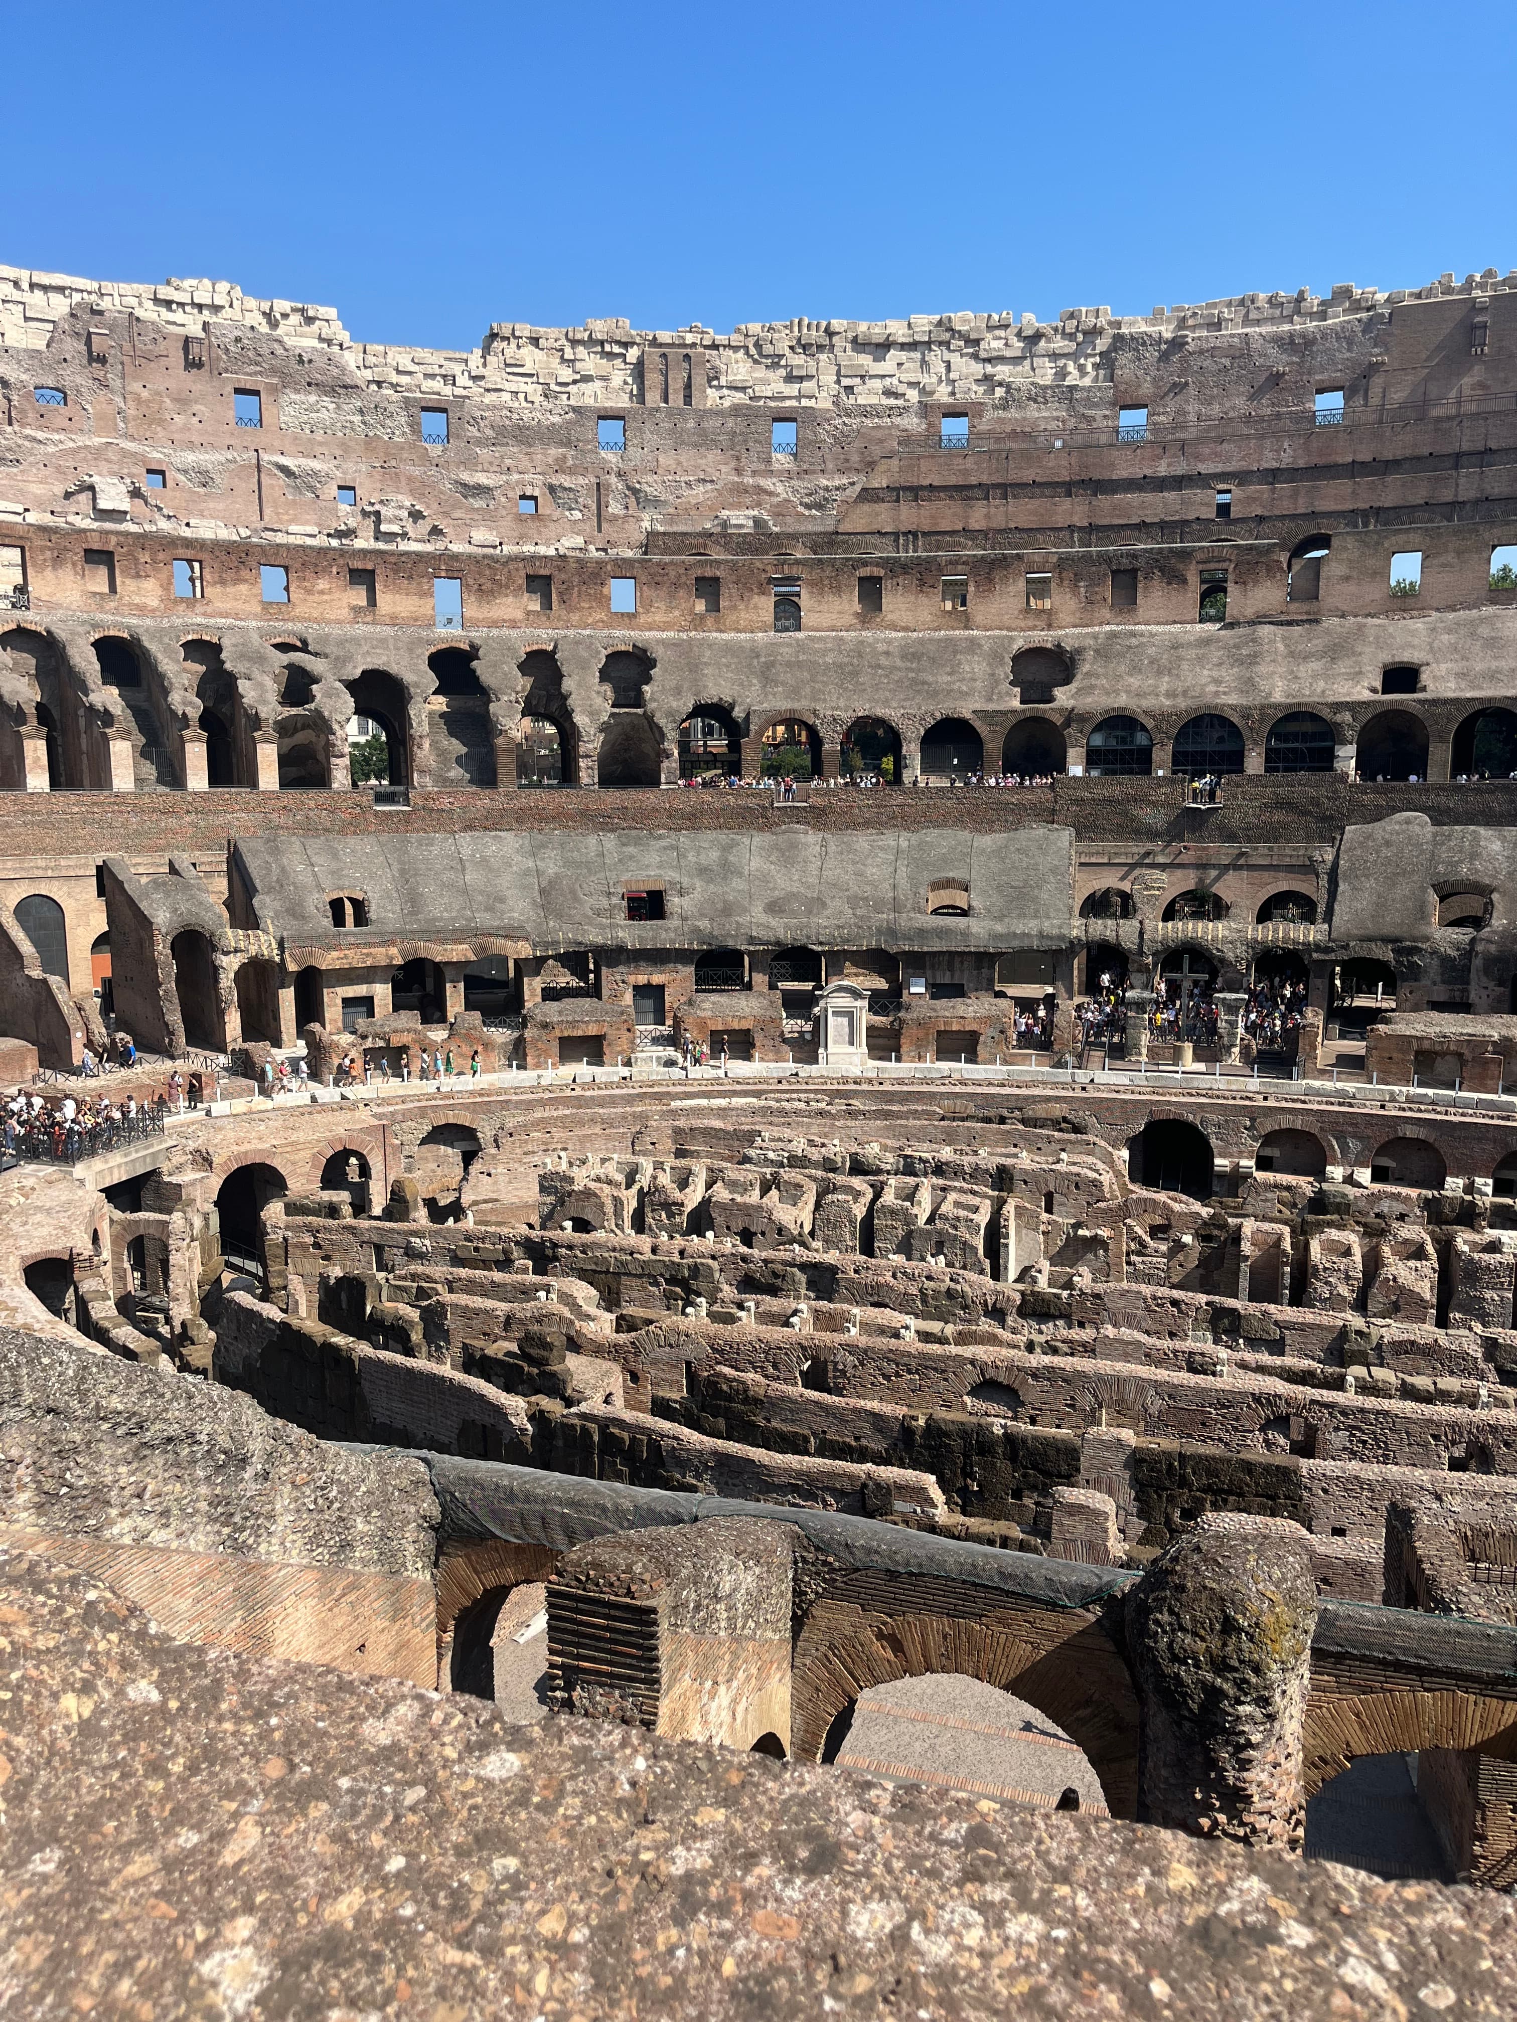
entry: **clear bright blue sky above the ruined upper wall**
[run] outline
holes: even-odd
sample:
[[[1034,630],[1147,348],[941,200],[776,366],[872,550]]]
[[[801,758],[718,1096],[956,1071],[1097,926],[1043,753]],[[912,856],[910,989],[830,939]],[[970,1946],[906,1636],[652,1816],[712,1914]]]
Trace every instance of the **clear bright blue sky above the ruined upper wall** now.
[[[370,342],[1517,265],[1517,8],[10,0],[0,261]]]

